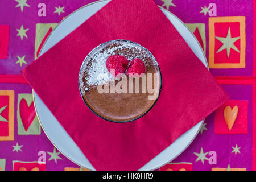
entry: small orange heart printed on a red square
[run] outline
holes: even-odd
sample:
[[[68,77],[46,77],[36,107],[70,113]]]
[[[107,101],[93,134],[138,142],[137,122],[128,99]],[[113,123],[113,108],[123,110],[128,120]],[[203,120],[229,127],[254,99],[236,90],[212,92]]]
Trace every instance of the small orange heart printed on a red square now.
[[[234,106],[233,109],[231,109],[230,106],[226,106],[224,109],[224,119],[226,122],[226,125],[228,126],[229,130],[232,129],[234,122],[237,119],[238,114],[238,107]]]

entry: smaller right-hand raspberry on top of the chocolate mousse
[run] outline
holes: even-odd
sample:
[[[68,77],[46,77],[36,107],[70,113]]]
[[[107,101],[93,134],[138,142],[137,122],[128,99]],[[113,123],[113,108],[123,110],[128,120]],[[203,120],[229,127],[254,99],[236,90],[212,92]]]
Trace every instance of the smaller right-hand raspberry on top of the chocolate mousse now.
[[[134,59],[133,61],[131,61],[131,64],[127,69],[127,74],[130,77],[138,77],[141,73],[145,73],[145,72],[146,72],[145,64],[140,59]],[[138,75],[136,73],[138,73]]]

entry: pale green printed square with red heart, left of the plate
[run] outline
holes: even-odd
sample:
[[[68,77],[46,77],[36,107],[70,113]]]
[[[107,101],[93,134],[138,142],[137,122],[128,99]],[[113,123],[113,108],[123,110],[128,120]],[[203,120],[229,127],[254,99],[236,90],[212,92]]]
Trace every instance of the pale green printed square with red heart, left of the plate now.
[[[17,121],[19,135],[41,134],[41,126],[36,116],[32,94],[18,95]]]

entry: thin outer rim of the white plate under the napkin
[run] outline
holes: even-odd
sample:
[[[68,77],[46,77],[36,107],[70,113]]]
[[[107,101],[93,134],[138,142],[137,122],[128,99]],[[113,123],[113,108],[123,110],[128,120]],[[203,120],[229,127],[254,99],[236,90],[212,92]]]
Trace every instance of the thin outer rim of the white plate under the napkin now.
[[[84,7],[87,7],[87,6],[93,5],[94,3],[98,3],[98,2],[102,2],[102,1],[107,1],[107,0],[98,0],[98,1],[94,1],[94,2],[88,3],[88,4],[84,5],[84,6],[81,6],[81,7],[79,7],[79,9],[76,9],[75,11],[72,11],[72,13],[70,13],[69,15],[67,15],[67,16],[65,17],[65,19],[68,18],[69,16],[71,16],[72,14],[76,13],[76,11],[79,11],[80,9],[83,9]],[[191,32],[191,30],[189,30],[189,28],[185,25],[185,23],[184,23],[180,18],[178,18],[175,14],[171,13],[171,12],[168,11],[167,9],[164,9],[162,6],[159,6],[159,5],[157,5],[157,6],[159,7],[159,9],[164,10],[164,11],[166,11],[166,13],[171,14],[172,16],[174,16],[177,20],[179,20],[180,23],[182,23],[182,24],[184,25],[184,27],[185,27],[189,32]],[[61,20],[61,21],[57,24],[57,26],[55,27],[55,29],[56,29],[65,19]],[[52,33],[55,31],[55,29],[52,30],[52,32],[48,35],[46,41],[43,43],[43,46],[42,46],[42,48],[41,48],[40,51],[39,51],[39,55],[40,55],[40,56],[42,56],[42,55],[41,55],[42,49],[43,49],[43,47],[45,46],[45,44],[46,44],[48,38],[49,38],[49,37],[52,35]],[[176,28],[175,28],[175,29],[176,29]],[[205,55],[205,53],[204,53],[204,51],[203,51],[203,48],[200,46],[199,41],[196,39],[196,36],[195,36],[192,32],[191,32],[191,35],[192,35],[192,36],[194,37],[194,39],[196,40],[197,44],[199,44],[199,47],[200,47],[200,49],[201,49],[201,52],[203,52],[203,55],[204,55],[204,60],[205,60],[205,63],[206,63],[205,67],[209,70],[209,65],[208,65],[207,57],[206,57],[206,55]],[[63,154],[66,158],[68,158],[69,160],[71,160],[71,162],[77,164],[77,166],[80,166],[80,167],[82,167],[82,168],[88,169],[88,170],[90,170],[90,171],[94,171],[93,169],[90,169],[90,168],[81,166],[81,164],[78,164],[77,162],[75,162],[74,160],[72,160],[69,156],[65,155],[64,152],[62,152],[61,150],[59,150],[59,148],[56,146],[56,144],[55,144],[54,142],[52,142],[52,140],[49,138],[48,134],[46,133],[46,130],[44,130],[44,127],[43,127],[43,125],[42,125],[42,122],[40,121],[40,118],[39,118],[39,115],[38,115],[38,111],[37,111],[37,109],[36,109],[35,94],[34,94],[34,93],[35,93],[35,90],[32,89],[32,98],[33,98],[33,103],[34,103],[34,107],[35,107],[36,117],[38,117],[38,121],[39,121],[40,126],[42,127],[42,129],[43,129],[43,131],[44,131],[44,134],[46,134],[47,138],[50,140],[50,142],[53,144],[53,146],[54,146],[59,152],[61,152],[61,154]],[[39,97],[39,96],[38,96],[38,97]],[[39,97],[39,98],[40,98],[40,97]],[[53,116],[54,116],[54,115],[53,115]],[[204,118],[203,120],[201,120],[201,121],[198,122],[198,123],[202,122],[201,125],[200,125],[200,127],[199,127],[199,130],[197,130],[195,136],[193,136],[192,140],[187,144],[187,146],[185,146],[185,147],[183,148],[183,150],[181,150],[181,151],[179,152],[179,154],[177,154],[177,155],[176,155],[174,158],[172,158],[171,160],[168,160],[167,163],[164,163],[164,164],[162,164],[162,165],[160,165],[160,166],[158,166],[158,167],[156,167],[156,168],[150,169],[150,171],[154,171],[155,169],[158,169],[158,168],[160,168],[160,167],[162,167],[162,166],[164,166],[164,165],[170,163],[172,160],[175,160],[180,154],[182,154],[182,153],[191,145],[191,143],[195,140],[195,138],[196,138],[197,135],[199,134],[199,131],[201,130],[201,127],[202,127],[203,124],[204,124],[204,121],[205,121],[205,118]],[[197,123],[197,124],[198,124],[198,123]],[[197,125],[197,124],[196,124],[196,125]],[[195,126],[196,126],[196,125],[195,125]],[[195,127],[195,126],[193,126],[193,127]],[[63,126],[61,126],[61,127],[63,127]],[[191,129],[192,129],[192,128],[191,128]],[[64,130],[65,130],[65,129],[64,129]],[[189,130],[188,130],[188,131],[189,131]],[[187,131],[186,131],[186,132],[187,132]],[[66,133],[67,133],[67,131],[66,131]],[[68,135],[69,135],[69,134],[68,134]],[[181,136],[182,136],[182,135],[181,135]],[[180,137],[181,137],[181,136],[180,136]],[[69,136],[69,137],[70,137],[70,136]],[[179,137],[179,138],[180,138],[180,137]],[[177,138],[177,139],[179,139],[179,138]],[[71,139],[72,139],[72,138],[71,138]],[[72,140],[73,140],[73,139],[72,139]],[[176,140],[175,140],[175,141],[176,141]],[[75,144],[76,144],[76,143],[75,143]],[[170,146],[171,146],[171,144],[170,144]],[[169,146],[168,146],[168,147],[169,147]],[[164,149],[164,150],[165,150],[165,149]],[[160,153],[161,153],[161,152],[160,152]],[[160,154],[160,153],[159,153],[159,154]],[[158,154],[158,155],[159,155],[159,154]],[[156,155],[156,156],[157,156],[157,155]],[[156,156],[155,156],[155,157],[156,157]],[[154,158],[155,158],[155,157],[154,157]],[[154,158],[153,158],[153,159],[154,159]],[[151,159],[151,160],[152,160],[152,159]],[[89,159],[88,159],[88,161],[89,161]],[[89,162],[90,162],[90,161],[89,161]],[[146,164],[147,164],[147,163],[146,163]],[[146,165],[146,164],[144,164],[144,165]]]

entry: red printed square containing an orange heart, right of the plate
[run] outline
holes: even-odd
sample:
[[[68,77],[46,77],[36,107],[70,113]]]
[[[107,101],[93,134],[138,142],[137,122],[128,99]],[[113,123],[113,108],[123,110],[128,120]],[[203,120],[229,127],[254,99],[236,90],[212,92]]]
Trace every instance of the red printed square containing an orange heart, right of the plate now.
[[[249,101],[229,100],[215,111],[214,132],[216,134],[248,133]]]

